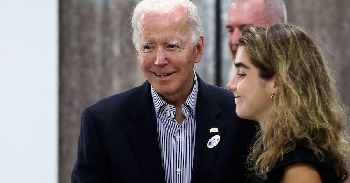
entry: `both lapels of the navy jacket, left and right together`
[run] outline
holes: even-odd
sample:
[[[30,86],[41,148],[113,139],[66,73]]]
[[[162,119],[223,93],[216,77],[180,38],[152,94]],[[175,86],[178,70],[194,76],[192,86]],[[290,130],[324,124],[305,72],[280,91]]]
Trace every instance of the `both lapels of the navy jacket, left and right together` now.
[[[196,144],[191,183],[207,182],[220,146],[219,143],[213,148],[208,148],[207,143],[215,135],[222,136],[224,129],[224,123],[215,119],[221,112],[217,101],[212,96],[209,87],[198,76],[197,78]],[[132,103],[134,105],[129,115],[134,123],[126,128],[126,133],[140,161],[147,182],[164,183],[165,176],[159,150],[155,111],[148,82],[141,86],[140,97]],[[210,133],[210,128],[218,128],[218,132]]]

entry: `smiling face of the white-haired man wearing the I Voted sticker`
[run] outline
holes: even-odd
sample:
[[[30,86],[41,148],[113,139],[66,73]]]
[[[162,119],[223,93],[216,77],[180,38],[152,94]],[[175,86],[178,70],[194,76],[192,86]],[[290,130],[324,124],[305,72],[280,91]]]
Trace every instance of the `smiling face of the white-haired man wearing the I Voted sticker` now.
[[[138,16],[137,57],[147,81],[165,100],[188,96],[194,63],[203,54],[203,44],[194,45],[190,40],[186,15],[177,9]]]

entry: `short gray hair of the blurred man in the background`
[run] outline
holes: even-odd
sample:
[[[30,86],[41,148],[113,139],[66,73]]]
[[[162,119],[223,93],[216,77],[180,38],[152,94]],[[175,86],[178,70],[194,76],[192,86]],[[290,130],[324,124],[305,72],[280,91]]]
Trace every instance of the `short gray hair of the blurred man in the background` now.
[[[233,0],[232,2],[250,1]],[[264,0],[268,13],[272,16],[273,22],[287,23],[287,9],[283,0]]]

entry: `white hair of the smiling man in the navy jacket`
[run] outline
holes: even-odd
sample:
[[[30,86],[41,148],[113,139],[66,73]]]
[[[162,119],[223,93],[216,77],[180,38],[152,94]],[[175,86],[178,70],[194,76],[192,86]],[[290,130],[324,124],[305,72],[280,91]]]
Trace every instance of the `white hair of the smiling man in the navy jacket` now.
[[[200,36],[203,33],[201,19],[197,7],[190,0],[143,0],[139,2],[131,18],[131,26],[133,29],[132,40],[134,45],[139,43],[139,31],[137,27],[137,16],[141,13],[165,13],[169,9],[183,7],[187,10],[189,17],[190,32],[189,36],[193,44],[197,45],[201,42]]]

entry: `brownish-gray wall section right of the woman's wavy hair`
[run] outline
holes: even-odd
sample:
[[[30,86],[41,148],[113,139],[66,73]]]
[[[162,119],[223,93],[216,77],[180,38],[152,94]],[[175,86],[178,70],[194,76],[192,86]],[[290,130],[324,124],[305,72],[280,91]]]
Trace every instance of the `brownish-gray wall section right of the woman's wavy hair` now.
[[[319,46],[333,71],[342,101],[349,108],[350,1],[285,0],[285,3],[288,22],[304,27],[320,40]]]

